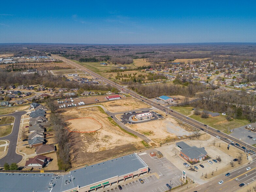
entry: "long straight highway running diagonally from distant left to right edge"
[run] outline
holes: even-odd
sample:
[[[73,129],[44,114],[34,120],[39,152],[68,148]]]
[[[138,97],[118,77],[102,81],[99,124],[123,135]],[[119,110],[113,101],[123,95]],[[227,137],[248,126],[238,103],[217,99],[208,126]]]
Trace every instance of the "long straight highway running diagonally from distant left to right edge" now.
[[[124,90],[126,91],[126,93],[130,94],[131,96],[135,97],[136,99],[139,99],[139,100],[143,100],[144,103],[146,104],[149,104],[159,110],[162,110],[162,111],[165,111],[167,112],[169,108],[165,107],[165,106],[161,106],[161,105],[158,105],[157,103],[153,102],[153,101],[149,101],[149,100],[146,100],[147,98],[145,97],[142,97],[140,96],[139,94],[137,94],[136,92],[132,91],[132,90],[127,90],[126,88],[124,88],[123,86],[120,86],[119,84],[116,84],[115,82],[113,81],[110,81],[109,79],[91,71],[91,70],[88,70],[87,68],[85,68],[84,66],[81,66],[71,60],[68,60],[66,59],[65,57],[61,57],[61,56],[57,56],[59,57],[61,60],[65,61],[65,62],[68,62],[69,64],[73,65],[74,67],[76,67],[77,69],[80,69],[82,71],[85,71],[89,74],[91,74],[92,76],[98,78],[99,80],[105,82],[106,84],[109,84],[115,88],[118,88],[119,90]],[[235,137],[232,137],[230,135],[227,135],[225,133],[218,133],[216,132],[216,129],[214,129],[213,127],[208,127],[207,131],[206,131],[206,127],[204,126],[203,123],[197,121],[197,120],[194,120],[194,119],[191,119],[191,118],[187,118],[186,116],[176,112],[176,111],[173,111],[173,112],[169,112],[169,115],[171,115],[172,117],[178,119],[178,120],[181,120],[183,121],[184,123],[192,126],[192,127],[195,127],[195,128],[203,128],[204,129],[204,132],[207,132],[208,134],[212,135],[212,136],[220,136],[220,139],[223,140],[224,142],[226,143],[230,143],[228,141],[226,141],[224,138],[228,138],[228,139],[231,139],[232,141],[234,141],[235,143],[238,143],[240,145],[240,147],[237,147],[235,146],[237,149],[241,150],[241,151],[244,151],[241,147],[242,146],[247,146],[247,149],[248,150],[253,150],[256,152],[256,148],[251,146],[251,145],[246,145],[246,143],[242,140],[239,140]]]

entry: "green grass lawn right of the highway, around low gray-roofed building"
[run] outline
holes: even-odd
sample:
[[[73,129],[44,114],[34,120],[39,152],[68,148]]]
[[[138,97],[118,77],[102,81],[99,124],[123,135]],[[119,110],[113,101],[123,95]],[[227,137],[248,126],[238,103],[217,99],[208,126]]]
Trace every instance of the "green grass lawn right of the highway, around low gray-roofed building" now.
[[[206,125],[209,125],[211,127],[214,127],[220,131],[223,131],[224,133],[228,132],[228,128],[234,129],[237,127],[241,127],[243,125],[247,125],[250,122],[248,120],[232,120],[232,121],[227,121],[226,117],[224,115],[220,115],[219,117],[215,118],[201,118],[200,115],[191,115],[190,118],[200,121]]]

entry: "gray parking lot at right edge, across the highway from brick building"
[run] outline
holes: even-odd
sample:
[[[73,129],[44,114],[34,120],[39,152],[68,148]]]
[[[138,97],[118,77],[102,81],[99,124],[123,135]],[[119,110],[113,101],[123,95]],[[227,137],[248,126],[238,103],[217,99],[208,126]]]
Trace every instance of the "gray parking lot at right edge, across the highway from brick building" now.
[[[232,131],[230,135],[237,139],[241,139],[242,141],[247,142],[250,145],[255,144],[256,140],[250,139],[247,136],[252,136],[253,138],[256,138],[256,133],[252,131],[248,132],[248,129],[244,127],[245,126],[234,129],[234,131]]]

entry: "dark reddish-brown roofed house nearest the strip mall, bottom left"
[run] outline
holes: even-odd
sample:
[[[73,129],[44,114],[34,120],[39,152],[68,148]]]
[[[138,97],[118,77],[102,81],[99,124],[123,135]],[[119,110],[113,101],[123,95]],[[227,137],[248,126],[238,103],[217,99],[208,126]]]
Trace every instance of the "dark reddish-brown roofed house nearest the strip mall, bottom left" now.
[[[41,169],[48,165],[51,157],[46,157],[44,155],[37,155],[33,158],[29,158],[25,163],[25,168],[37,168]]]

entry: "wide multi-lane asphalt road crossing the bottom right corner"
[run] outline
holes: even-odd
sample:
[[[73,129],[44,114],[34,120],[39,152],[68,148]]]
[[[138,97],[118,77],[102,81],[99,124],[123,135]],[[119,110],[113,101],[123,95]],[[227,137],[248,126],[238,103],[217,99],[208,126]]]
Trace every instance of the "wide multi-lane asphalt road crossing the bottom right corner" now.
[[[246,170],[246,168],[250,167],[250,170]],[[228,191],[234,192],[240,189],[239,184],[245,183],[250,184],[254,182],[256,179],[256,163],[252,162],[250,165],[246,164],[242,168],[236,169],[230,172],[230,176],[226,177],[225,174],[218,176],[216,179],[207,182],[206,184],[202,184],[193,189],[186,190],[185,192],[216,192],[216,191]],[[218,182],[222,180],[223,184],[218,184]]]

